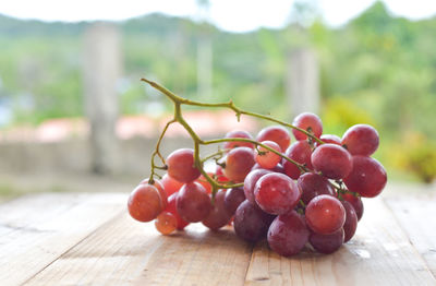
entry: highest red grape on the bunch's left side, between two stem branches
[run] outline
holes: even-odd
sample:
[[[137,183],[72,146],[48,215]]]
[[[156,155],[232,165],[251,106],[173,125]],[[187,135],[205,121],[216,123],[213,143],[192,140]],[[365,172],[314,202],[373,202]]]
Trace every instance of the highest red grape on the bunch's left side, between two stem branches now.
[[[199,177],[199,170],[194,166],[194,151],[179,148],[167,157],[168,175],[180,182],[192,182]]]

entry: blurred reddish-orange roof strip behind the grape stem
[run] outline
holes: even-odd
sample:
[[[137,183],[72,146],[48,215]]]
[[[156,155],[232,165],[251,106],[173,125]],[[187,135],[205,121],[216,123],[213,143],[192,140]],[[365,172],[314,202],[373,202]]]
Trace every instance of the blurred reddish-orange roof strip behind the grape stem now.
[[[185,111],[184,118],[193,130],[204,138],[222,136],[231,130],[255,132],[257,121],[253,118],[241,117],[238,122],[234,112],[222,111]],[[121,140],[134,136],[156,138],[171,117],[152,118],[148,116],[123,116],[116,126],[117,136]],[[50,119],[38,127],[19,126],[0,131],[2,142],[59,142],[72,138],[85,138],[89,133],[89,123],[84,118]],[[189,136],[179,123],[173,123],[166,136]]]

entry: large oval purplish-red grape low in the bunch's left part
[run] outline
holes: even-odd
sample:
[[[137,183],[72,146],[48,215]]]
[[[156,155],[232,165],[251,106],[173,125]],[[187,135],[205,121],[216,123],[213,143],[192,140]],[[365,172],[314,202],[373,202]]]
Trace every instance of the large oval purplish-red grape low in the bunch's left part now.
[[[210,198],[197,182],[189,182],[180,189],[175,206],[180,216],[190,223],[205,219],[211,211]]]

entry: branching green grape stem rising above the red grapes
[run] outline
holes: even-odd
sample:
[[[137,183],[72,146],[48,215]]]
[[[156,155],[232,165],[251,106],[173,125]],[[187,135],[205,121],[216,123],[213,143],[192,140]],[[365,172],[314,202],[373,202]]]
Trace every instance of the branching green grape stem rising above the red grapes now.
[[[156,83],[154,81],[149,81],[147,79],[141,79],[141,81],[146,82],[152,87],[154,87],[157,91],[161,92],[174,105],[174,117],[173,117],[172,120],[170,120],[165,126],[165,128],[164,128],[164,130],[162,130],[162,132],[161,132],[161,134],[160,134],[160,136],[158,139],[158,142],[156,144],[155,152],[152,155],[152,175],[150,175],[150,179],[149,179],[150,182],[153,182],[154,176],[157,176],[156,169],[165,169],[166,168],[165,158],[160,154],[160,143],[161,143],[161,141],[164,139],[164,135],[165,135],[166,131],[168,130],[169,126],[174,123],[174,122],[179,122],[187,131],[187,133],[192,138],[192,140],[194,142],[194,165],[201,171],[203,177],[213,187],[213,196],[215,196],[215,193],[217,192],[218,189],[229,189],[229,188],[243,187],[243,183],[226,183],[226,184],[222,184],[222,183],[219,183],[218,181],[216,181],[214,178],[211,178],[203,168],[205,159],[202,159],[201,156],[199,156],[199,145],[209,145],[209,144],[216,144],[216,143],[222,143],[222,142],[249,142],[249,143],[255,144],[256,146],[262,146],[262,147],[268,150],[269,152],[272,152],[272,153],[279,155],[280,157],[289,160],[290,163],[294,164],[302,172],[308,170],[304,165],[299,164],[298,162],[287,157],[286,155],[281,154],[280,152],[278,152],[278,151],[276,151],[276,150],[274,150],[274,148],[271,148],[271,147],[269,147],[269,146],[267,146],[265,144],[262,144],[262,143],[259,143],[257,141],[254,141],[254,140],[241,139],[241,138],[216,139],[216,140],[208,140],[208,141],[202,140],[195,133],[195,131],[192,129],[192,127],[184,120],[183,115],[182,115],[182,108],[181,108],[182,105],[198,106],[198,107],[210,107],[210,108],[229,108],[229,109],[231,109],[231,110],[233,110],[235,112],[238,121],[240,120],[241,115],[264,119],[264,120],[267,120],[267,121],[270,121],[270,122],[275,122],[275,123],[288,127],[288,128],[295,129],[295,130],[306,134],[310,139],[318,142],[319,144],[324,143],[318,138],[313,135],[311,132],[307,132],[306,130],[298,128],[298,127],[295,127],[293,124],[287,123],[284,121],[278,120],[278,119],[269,117],[269,116],[265,116],[265,115],[261,115],[261,114],[255,114],[255,112],[250,112],[250,111],[246,111],[246,110],[242,110],[242,109],[238,108],[232,100],[230,100],[228,103],[218,103],[218,104],[209,104],[209,103],[201,103],[201,102],[190,100],[190,99],[186,99],[186,98],[183,98],[183,97],[180,97],[180,96],[173,94],[172,92],[170,92],[169,90],[167,90],[166,87],[159,85],[158,83]],[[213,154],[211,157],[214,157],[215,155],[216,154]],[[155,157],[156,156],[158,156],[160,158],[160,160],[162,162],[165,167],[159,167],[159,166],[157,166],[155,164]]]

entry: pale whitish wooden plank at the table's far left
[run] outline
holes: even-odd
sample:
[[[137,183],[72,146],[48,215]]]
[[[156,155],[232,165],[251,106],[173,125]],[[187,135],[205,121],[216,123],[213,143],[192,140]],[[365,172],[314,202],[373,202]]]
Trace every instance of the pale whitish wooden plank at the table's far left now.
[[[0,281],[19,285],[123,212],[125,194],[41,194],[0,206]]]

